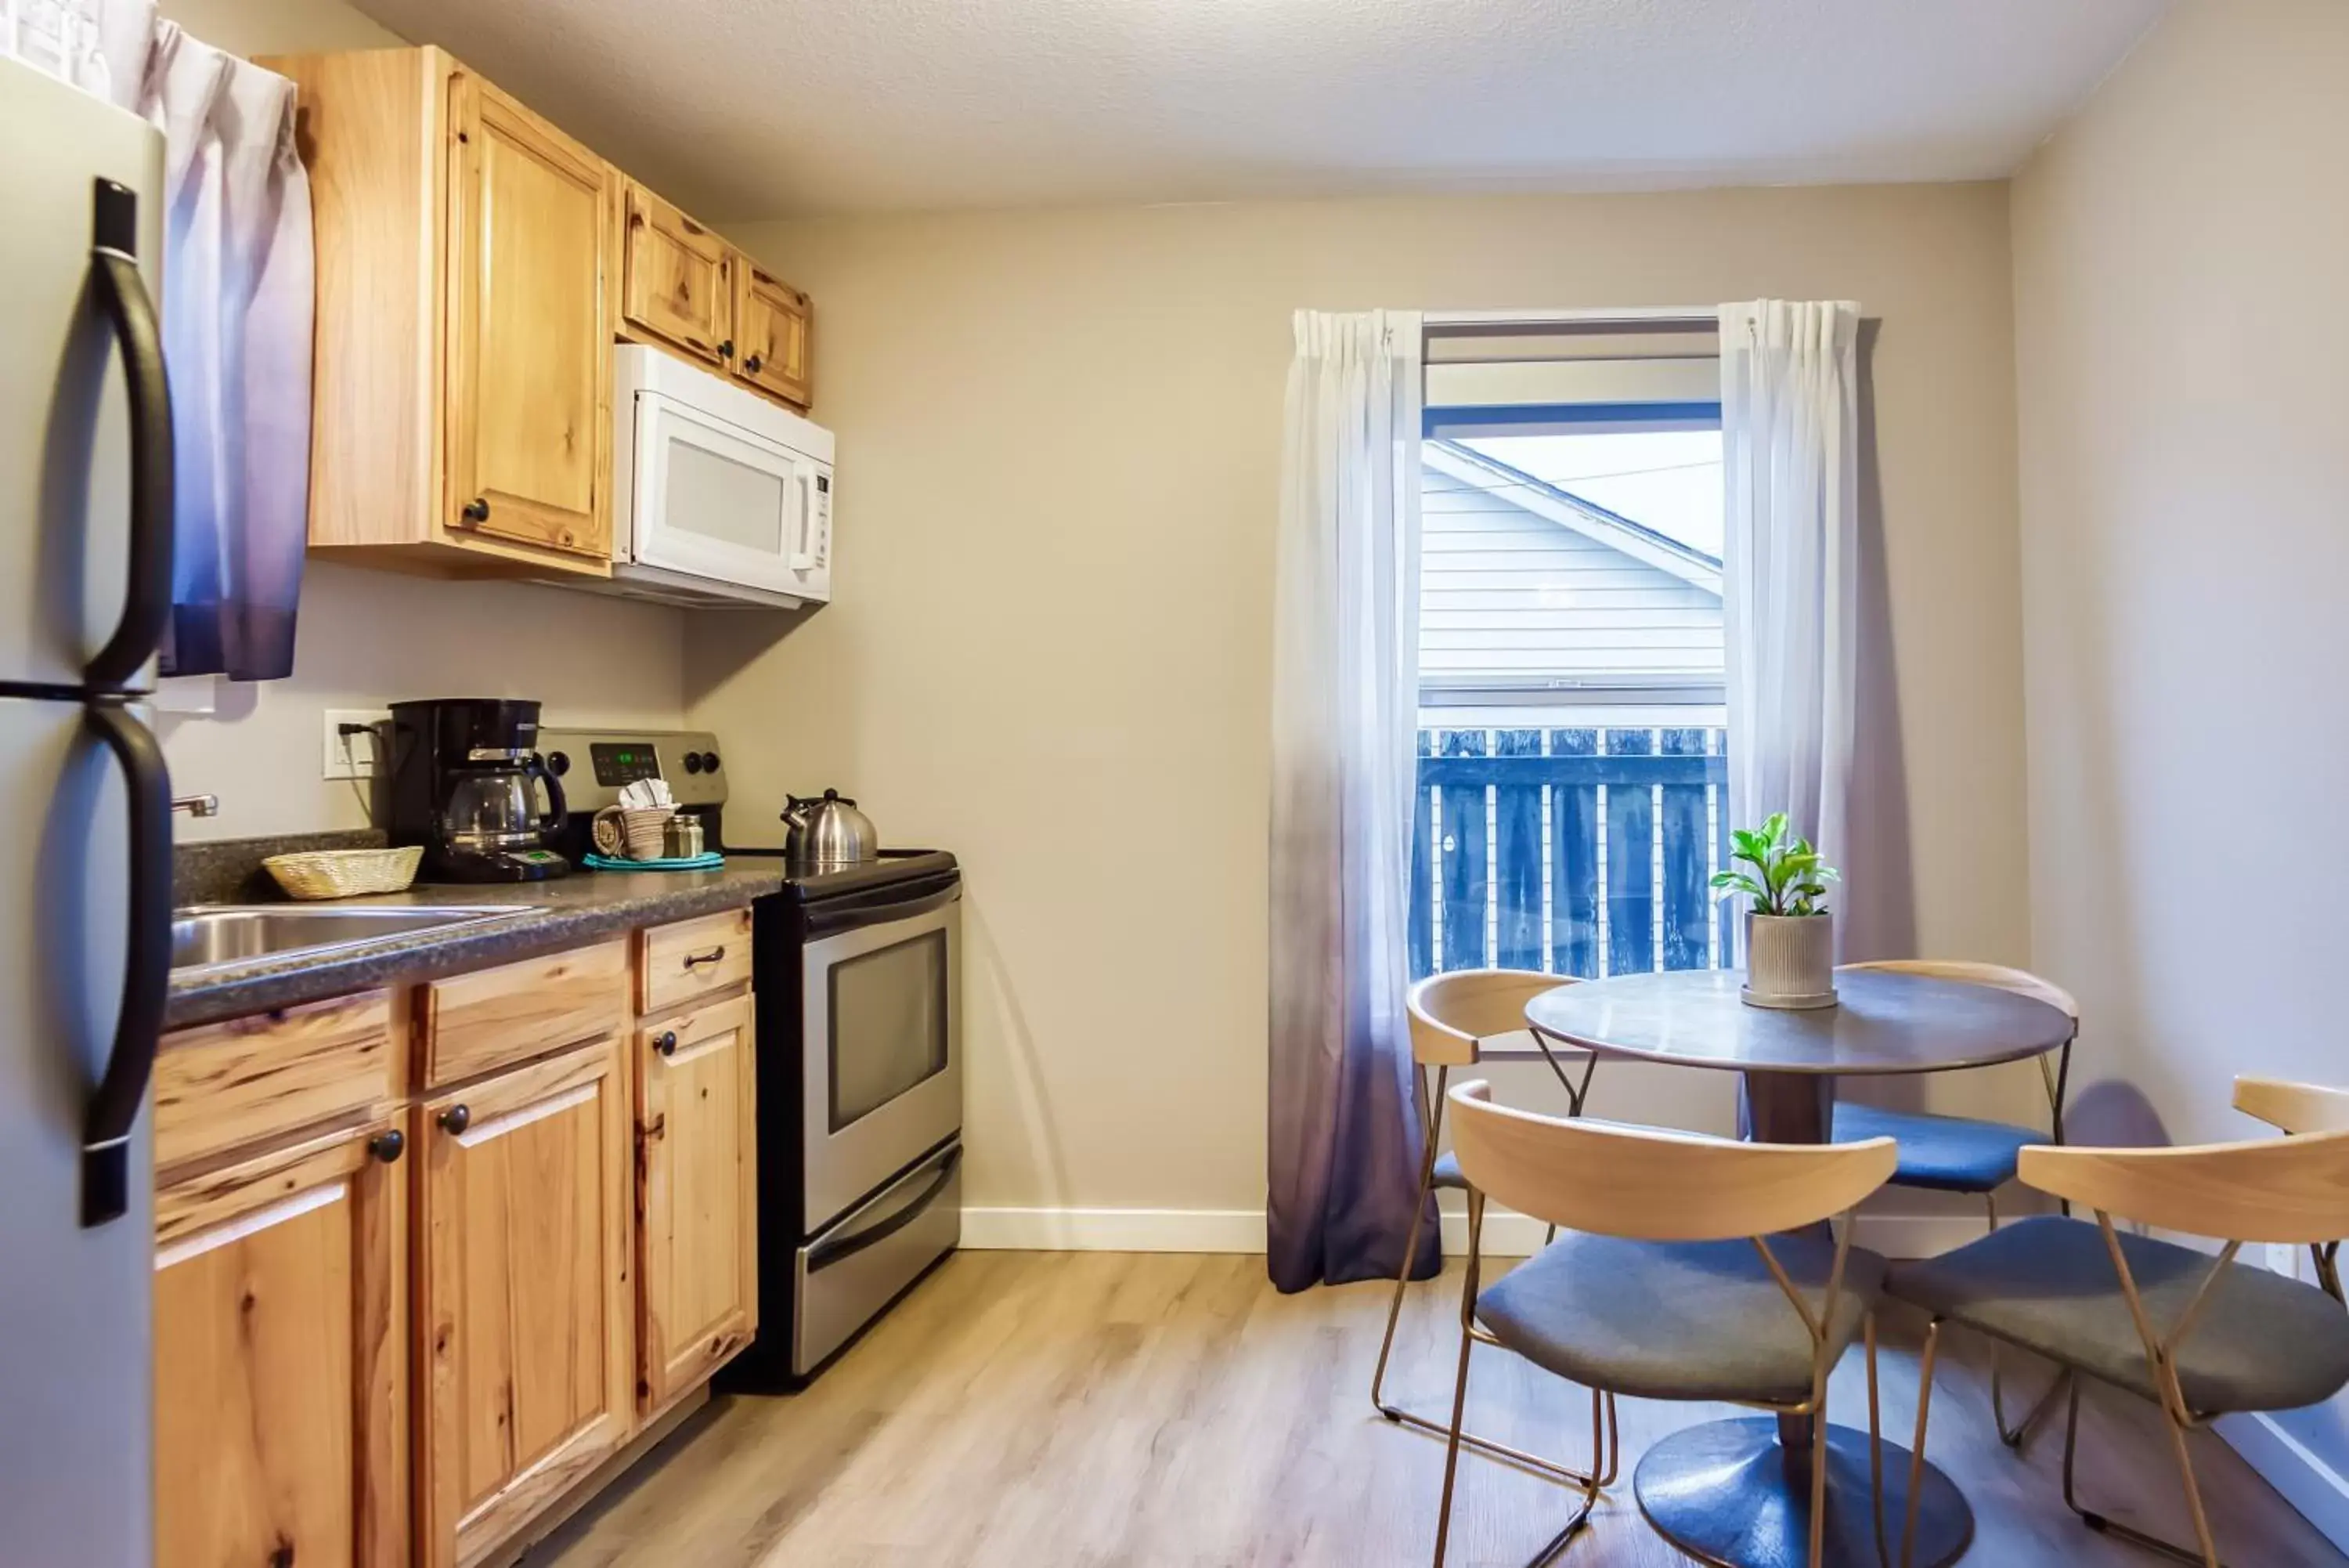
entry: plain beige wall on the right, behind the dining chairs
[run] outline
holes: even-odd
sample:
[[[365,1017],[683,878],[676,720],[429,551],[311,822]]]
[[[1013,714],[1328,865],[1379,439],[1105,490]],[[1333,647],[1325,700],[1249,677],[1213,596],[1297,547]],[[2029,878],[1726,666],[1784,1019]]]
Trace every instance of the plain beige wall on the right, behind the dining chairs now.
[[[2013,186],[2037,957],[2178,1138],[2349,1077],[2349,7],[2192,0]]]

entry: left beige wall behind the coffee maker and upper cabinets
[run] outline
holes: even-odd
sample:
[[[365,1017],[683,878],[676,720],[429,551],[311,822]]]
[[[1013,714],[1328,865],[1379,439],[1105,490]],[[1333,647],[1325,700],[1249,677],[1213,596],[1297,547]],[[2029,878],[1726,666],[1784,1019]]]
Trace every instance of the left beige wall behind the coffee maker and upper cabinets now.
[[[341,0],[167,0],[240,54],[369,49],[399,38]],[[564,724],[679,724],[679,611],[519,583],[428,583],[310,562],[294,675],[218,682],[211,717],[160,719],[171,783],[221,797],[181,839],[362,827],[357,785],[322,773],[329,708],[411,696],[529,696]]]

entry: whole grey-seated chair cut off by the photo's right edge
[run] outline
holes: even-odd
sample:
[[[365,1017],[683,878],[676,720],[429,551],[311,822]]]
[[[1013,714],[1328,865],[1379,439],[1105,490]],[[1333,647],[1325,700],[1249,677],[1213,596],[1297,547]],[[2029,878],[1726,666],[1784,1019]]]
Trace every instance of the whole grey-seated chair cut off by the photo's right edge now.
[[[1933,1314],[1917,1389],[1914,1467],[1924,1465],[1940,1328],[1964,1324],[2159,1403],[2196,1544],[2135,1530],[2074,1497],[2077,1378],[2062,1448],[2065,1507],[2093,1530],[2217,1568],[2187,1434],[2225,1413],[2288,1410],[2349,1387],[2349,1312],[2337,1295],[2234,1260],[2246,1241],[2323,1248],[2349,1237],[2349,1093],[2243,1079],[2236,1105],[2286,1126],[2328,1131],[2170,1150],[2034,1145],[2022,1150],[2022,1180],[2093,1211],[2093,1225],[2037,1215],[1891,1269],[1884,1293]],[[2222,1246],[2213,1258],[2121,1234],[2114,1220]],[[1903,1523],[1903,1563],[1912,1533],[1914,1519]]]

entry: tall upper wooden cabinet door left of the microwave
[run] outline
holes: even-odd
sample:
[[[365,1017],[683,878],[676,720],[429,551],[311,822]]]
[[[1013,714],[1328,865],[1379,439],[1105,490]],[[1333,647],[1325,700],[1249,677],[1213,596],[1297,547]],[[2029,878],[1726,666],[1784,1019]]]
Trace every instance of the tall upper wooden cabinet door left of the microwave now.
[[[449,491],[442,522],[611,555],[611,169],[489,82],[449,82]]]

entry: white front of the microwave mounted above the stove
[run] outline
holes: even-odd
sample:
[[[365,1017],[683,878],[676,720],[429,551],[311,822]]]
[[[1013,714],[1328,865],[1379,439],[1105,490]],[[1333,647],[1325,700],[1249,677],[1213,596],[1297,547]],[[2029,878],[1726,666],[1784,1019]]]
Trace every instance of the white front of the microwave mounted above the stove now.
[[[637,393],[630,555],[796,599],[832,597],[832,465]]]

